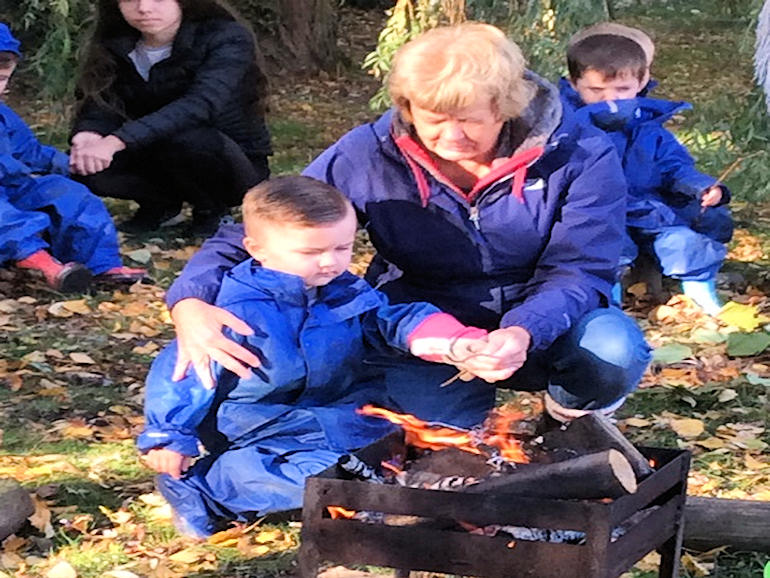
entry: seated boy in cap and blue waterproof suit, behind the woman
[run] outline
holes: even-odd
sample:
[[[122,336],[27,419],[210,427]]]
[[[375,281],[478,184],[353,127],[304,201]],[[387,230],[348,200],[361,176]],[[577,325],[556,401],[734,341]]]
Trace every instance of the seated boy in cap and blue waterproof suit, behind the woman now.
[[[730,192],[699,172],[663,126],[690,105],[640,96],[652,60],[652,42],[640,30],[604,23],[576,36],[561,96],[578,121],[609,135],[623,162],[629,239],[621,268],[633,263],[639,249],[651,252],[665,275],[681,280],[685,295],[716,315],[721,305],[715,279],[733,231]]]

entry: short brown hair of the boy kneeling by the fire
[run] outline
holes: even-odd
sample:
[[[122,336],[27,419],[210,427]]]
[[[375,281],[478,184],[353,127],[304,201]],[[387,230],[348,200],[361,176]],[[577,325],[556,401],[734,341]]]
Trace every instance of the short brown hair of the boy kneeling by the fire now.
[[[243,224],[251,235],[258,223],[313,227],[337,223],[352,210],[350,201],[331,185],[291,175],[262,181],[243,197]]]

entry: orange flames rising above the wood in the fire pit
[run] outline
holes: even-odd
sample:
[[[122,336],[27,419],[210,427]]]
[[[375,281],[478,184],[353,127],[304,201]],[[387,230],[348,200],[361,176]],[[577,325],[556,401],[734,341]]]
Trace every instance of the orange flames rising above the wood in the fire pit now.
[[[493,414],[493,419],[488,420],[488,424],[485,423],[482,435],[479,436],[470,430],[432,424],[413,415],[395,413],[373,405],[365,405],[358,412],[400,425],[406,432],[406,443],[414,447],[430,450],[455,447],[473,454],[483,454],[478,448],[479,443],[482,443],[497,448],[506,460],[518,463],[529,461],[521,443],[508,433],[510,424],[521,419],[522,414]]]

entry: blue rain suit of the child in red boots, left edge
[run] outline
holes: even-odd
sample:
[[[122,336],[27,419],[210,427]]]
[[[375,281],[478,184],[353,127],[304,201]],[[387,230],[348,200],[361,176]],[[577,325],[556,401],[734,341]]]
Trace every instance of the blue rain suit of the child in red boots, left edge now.
[[[0,264],[41,249],[97,275],[122,264],[112,217],[98,197],[64,176],[68,165],[67,155],[41,145],[0,104]]]

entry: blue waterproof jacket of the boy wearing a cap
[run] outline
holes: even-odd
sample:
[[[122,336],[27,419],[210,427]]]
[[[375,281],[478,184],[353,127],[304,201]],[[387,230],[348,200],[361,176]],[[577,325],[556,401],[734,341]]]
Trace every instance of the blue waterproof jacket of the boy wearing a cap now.
[[[702,209],[704,191],[716,184],[703,174],[687,149],[663,125],[691,108],[686,102],[637,97],[583,104],[566,79],[560,91],[575,120],[603,130],[623,162],[628,184],[627,223],[645,232],[687,226],[725,243],[732,236],[732,220],[724,205],[730,191],[724,185],[717,207]]]

